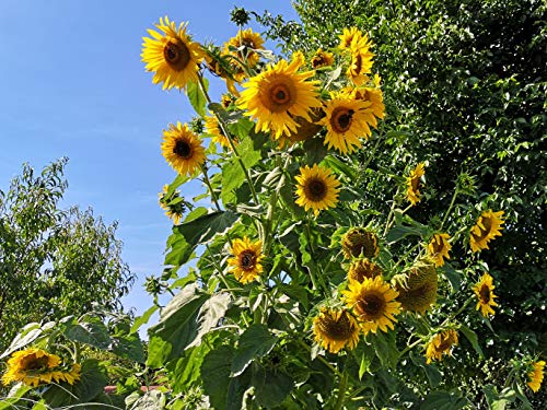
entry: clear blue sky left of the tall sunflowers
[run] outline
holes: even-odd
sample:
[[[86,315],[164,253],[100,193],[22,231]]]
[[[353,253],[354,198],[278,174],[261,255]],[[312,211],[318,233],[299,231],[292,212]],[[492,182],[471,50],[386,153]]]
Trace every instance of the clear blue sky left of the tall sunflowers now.
[[[184,95],[152,84],[142,36],[168,15],[220,45],[236,33],[234,5],[298,19],[290,0],[0,1],[0,188],[24,162],[40,169],[68,156],[63,206],[119,222],[124,260],[139,277],[125,304],[138,313],[151,305],[142,281],[161,272],[171,232],[158,206],[175,176],[162,129],[194,115]]]

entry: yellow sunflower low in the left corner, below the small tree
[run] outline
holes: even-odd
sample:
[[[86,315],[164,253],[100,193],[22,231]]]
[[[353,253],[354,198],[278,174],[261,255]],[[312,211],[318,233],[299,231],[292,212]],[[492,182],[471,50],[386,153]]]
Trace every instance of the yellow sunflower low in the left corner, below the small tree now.
[[[27,386],[36,387],[40,383],[50,384],[51,380],[73,384],[80,379],[80,365],[73,364],[69,372],[60,367],[61,359],[56,354],[47,353],[42,349],[26,349],[15,352],[8,360],[8,370],[2,376],[7,386],[13,382],[22,382]]]

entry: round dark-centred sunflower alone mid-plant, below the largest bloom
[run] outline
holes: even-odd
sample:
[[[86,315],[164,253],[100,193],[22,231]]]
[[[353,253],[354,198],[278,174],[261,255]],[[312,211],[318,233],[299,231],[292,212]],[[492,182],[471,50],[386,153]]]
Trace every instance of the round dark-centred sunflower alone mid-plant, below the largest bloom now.
[[[322,210],[336,208],[340,181],[331,175],[330,169],[322,168],[317,164],[311,168],[306,165],[300,168],[300,175],[295,179],[298,181],[295,202],[306,211],[311,208],[317,216]]]

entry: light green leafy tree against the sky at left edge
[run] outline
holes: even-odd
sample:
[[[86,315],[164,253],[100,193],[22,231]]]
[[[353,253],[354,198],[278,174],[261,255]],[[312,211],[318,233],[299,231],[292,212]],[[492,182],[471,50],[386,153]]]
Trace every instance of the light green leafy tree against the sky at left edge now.
[[[59,209],[66,159],[36,175],[23,165],[0,191],[0,350],[27,323],[81,315],[96,304],[121,311],[133,281],[116,223],[91,209]]]

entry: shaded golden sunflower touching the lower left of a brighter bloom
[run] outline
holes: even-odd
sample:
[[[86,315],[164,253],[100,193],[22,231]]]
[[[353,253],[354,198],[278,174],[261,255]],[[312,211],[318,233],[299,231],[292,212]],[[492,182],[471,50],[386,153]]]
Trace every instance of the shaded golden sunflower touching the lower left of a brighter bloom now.
[[[313,332],[317,343],[330,353],[338,353],[346,345],[354,349],[359,342],[359,325],[346,309],[322,309],[313,320]]]

